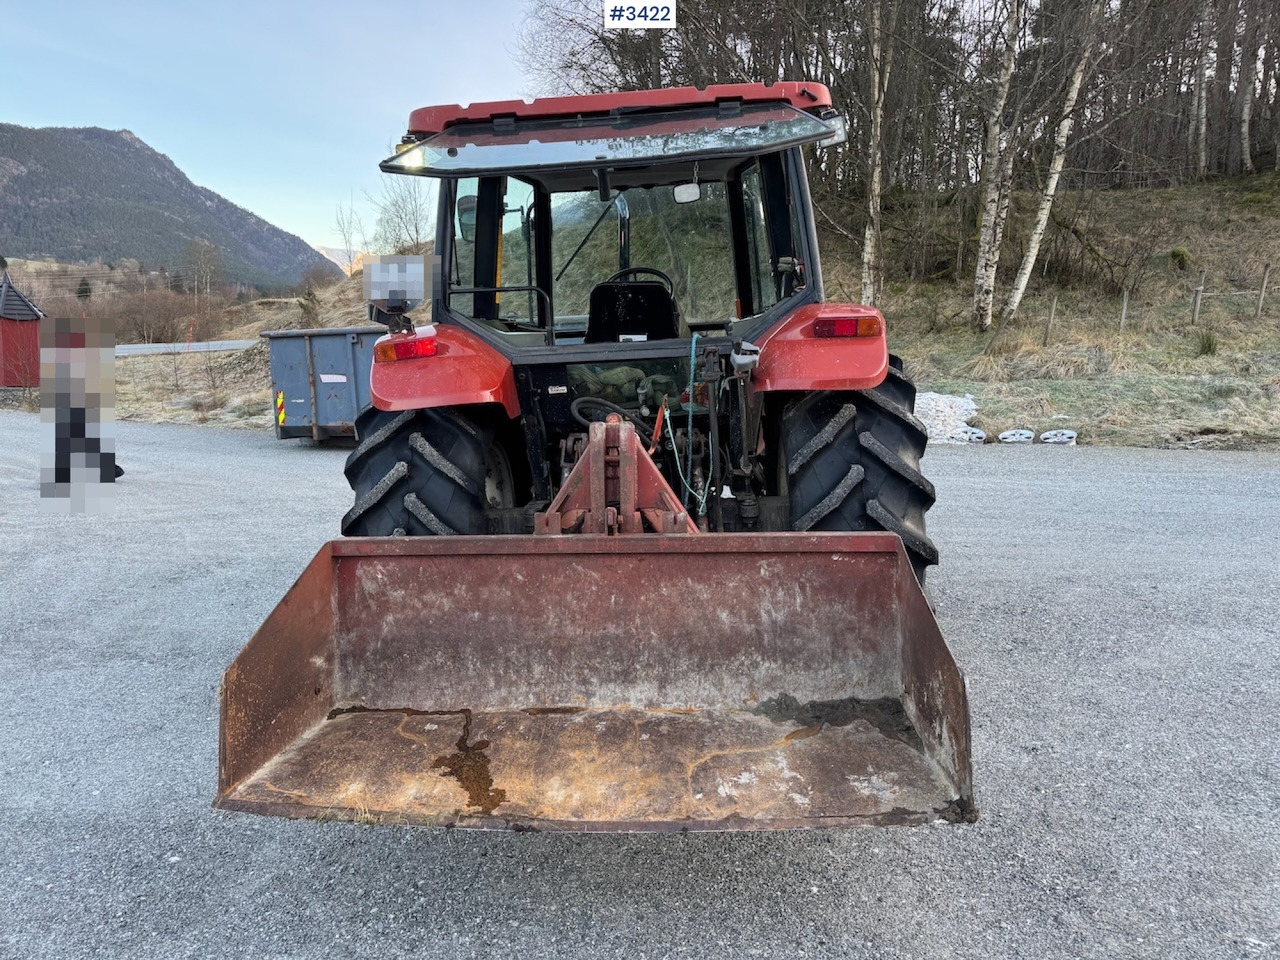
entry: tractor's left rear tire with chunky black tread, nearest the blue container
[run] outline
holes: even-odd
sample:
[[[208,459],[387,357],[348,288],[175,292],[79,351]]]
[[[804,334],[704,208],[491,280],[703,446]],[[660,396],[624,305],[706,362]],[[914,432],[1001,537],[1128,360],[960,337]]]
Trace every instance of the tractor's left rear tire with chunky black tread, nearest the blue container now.
[[[509,506],[511,470],[493,434],[457,410],[370,407],[356,434],[344,536],[483,534],[485,507]]]

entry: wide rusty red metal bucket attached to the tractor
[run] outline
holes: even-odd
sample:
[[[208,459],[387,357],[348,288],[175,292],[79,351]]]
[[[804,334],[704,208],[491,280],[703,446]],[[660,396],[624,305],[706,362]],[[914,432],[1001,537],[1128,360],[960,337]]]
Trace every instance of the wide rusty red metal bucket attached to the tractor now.
[[[228,668],[216,806],[564,831],[972,819],[890,534],[351,539]]]

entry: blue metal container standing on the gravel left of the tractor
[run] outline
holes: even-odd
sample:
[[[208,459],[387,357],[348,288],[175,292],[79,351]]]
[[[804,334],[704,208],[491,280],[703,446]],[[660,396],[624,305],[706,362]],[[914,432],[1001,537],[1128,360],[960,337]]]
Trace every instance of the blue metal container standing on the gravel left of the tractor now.
[[[370,402],[374,343],[385,333],[385,326],[337,326],[261,334],[270,343],[276,438],[356,438],[356,415]]]

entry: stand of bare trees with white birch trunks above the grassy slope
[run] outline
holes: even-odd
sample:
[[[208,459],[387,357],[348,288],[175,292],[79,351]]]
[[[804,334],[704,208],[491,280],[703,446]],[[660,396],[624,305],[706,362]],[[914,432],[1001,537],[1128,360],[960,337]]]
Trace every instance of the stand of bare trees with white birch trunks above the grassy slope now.
[[[824,242],[860,255],[868,301],[890,262],[913,278],[972,275],[978,329],[992,323],[1015,196],[1034,191],[1034,219],[1029,234],[1007,225],[1023,261],[1002,316],[1048,243],[1055,193],[1280,166],[1275,0],[719,0],[649,35],[604,29],[591,0],[529,10],[540,93],[826,84],[849,142],[809,157]]]

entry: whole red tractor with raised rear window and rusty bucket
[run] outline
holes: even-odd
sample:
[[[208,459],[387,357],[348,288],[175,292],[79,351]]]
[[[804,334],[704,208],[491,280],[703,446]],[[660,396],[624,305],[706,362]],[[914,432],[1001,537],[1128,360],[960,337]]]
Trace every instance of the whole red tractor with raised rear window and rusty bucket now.
[[[429,106],[353,503],[228,669],[216,805],[535,829],[975,815],[915,388],[828,302],[815,83]]]

